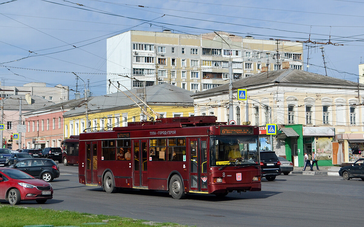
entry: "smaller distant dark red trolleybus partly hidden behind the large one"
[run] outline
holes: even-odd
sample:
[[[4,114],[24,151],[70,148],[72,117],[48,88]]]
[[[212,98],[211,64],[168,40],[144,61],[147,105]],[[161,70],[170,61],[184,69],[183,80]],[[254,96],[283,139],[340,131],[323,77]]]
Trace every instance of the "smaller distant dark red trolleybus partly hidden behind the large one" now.
[[[71,135],[70,138],[64,139],[62,142],[62,162],[63,165],[78,164],[78,143],[80,136]]]

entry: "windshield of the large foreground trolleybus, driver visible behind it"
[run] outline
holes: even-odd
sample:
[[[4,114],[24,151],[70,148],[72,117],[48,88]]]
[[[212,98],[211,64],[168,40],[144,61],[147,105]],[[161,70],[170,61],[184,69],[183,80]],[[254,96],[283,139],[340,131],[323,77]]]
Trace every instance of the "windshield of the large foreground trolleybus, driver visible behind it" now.
[[[258,165],[258,136],[214,136],[210,139],[210,166]]]

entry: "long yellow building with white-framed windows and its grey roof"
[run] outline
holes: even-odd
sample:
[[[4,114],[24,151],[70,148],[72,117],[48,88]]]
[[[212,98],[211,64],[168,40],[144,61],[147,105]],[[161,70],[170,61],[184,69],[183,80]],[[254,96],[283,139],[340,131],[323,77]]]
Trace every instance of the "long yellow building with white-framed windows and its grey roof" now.
[[[150,116],[157,119],[158,117],[150,108],[163,118],[194,115],[193,99],[191,98],[193,92],[177,86],[159,84],[147,86],[146,89],[132,89],[126,91],[125,94],[116,92],[106,96],[96,96],[87,102],[90,131],[112,130],[113,127],[127,126],[127,122],[150,120]],[[145,103],[150,108],[144,108],[142,101],[133,94],[146,100]],[[142,109],[146,110],[149,117],[142,112]],[[86,105],[67,111],[63,117],[65,139],[70,135],[79,135],[87,130]]]

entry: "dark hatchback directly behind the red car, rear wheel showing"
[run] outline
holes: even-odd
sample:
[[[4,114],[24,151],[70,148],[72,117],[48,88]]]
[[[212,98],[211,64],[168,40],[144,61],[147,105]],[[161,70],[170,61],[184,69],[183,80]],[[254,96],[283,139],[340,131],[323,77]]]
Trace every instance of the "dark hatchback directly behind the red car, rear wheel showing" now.
[[[19,169],[35,178],[47,182],[59,177],[59,167],[52,159],[27,158],[8,167]]]

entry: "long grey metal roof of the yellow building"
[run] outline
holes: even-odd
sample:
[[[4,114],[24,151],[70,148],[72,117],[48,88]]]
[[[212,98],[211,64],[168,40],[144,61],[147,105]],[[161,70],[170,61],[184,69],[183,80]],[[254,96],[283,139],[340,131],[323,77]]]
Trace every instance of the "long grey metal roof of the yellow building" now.
[[[142,90],[142,88],[140,88]],[[141,101],[139,101],[132,93],[137,95],[139,98],[143,99],[143,93],[138,92],[139,89],[131,89],[130,91],[124,91],[132,100],[143,105]],[[171,84],[158,84],[153,86],[146,87],[146,96],[147,96],[147,104],[149,105],[176,105],[176,104],[185,104],[185,105],[193,105],[193,99],[191,95],[194,93],[191,91],[187,91],[183,88],[179,88],[177,86]],[[109,109],[125,109],[130,107],[135,107],[134,101],[129,99],[123,92],[116,92],[105,96],[95,96],[89,102],[87,102],[87,107],[90,112],[104,110],[108,111]],[[76,107],[70,111],[67,111],[64,116],[75,115],[79,113],[84,113],[85,108]]]

